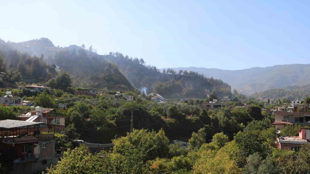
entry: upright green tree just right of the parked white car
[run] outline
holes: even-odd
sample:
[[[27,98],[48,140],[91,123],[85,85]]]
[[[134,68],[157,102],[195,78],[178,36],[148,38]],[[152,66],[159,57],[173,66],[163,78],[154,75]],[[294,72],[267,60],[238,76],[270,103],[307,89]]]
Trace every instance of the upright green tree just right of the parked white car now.
[[[200,128],[198,132],[193,132],[192,137],[188,140],[190,150],[198,150],[206,142],[206,128]]]

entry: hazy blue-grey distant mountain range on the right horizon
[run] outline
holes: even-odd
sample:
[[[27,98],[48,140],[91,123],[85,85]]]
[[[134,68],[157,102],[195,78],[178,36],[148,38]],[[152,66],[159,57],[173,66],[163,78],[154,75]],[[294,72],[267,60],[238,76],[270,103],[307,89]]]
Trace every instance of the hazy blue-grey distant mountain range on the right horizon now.
[[[162,68],[168,69],[168,68]],[[175,67],[175,71],[187,70],[204,74],[206,77],[222,79],[242,94],[254,94],[273,88],[304,86],[310,82],[310,64],[275,65],[252,67],[243,70],[223,70],[203,67]]]

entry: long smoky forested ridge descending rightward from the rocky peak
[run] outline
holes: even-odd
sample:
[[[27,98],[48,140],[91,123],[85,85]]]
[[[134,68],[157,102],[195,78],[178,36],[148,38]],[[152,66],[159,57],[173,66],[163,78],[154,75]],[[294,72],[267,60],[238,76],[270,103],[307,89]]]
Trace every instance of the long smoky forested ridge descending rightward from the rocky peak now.
[[[4,41],[0,43],[31,55],[44,54],[48,63],[55,64],[59,69],[67,71],[75,78],[78,78],[78,80],[75,80],[77,82],[75,83],[76,86],[107,87],[109,89],[117,84],[109,84],[111,80],[122,80],[121,86],[127,86],[128,89],[133,88],[130,85],[132,84],[141,91],[151,92],[156,90],[168,98],[182,98],[184,96],[205,98],[212,90],[216,90],[219,96],[231,95],[230,85],[222,80],[206,78],[195,72],[190,72],[187,75],[179,75],[176,72],[161,73],[157,67],[146,65],[142,58],[132,58],[118,52],[99,55],[96,54],[92,47],[89,49],[86,49],[84,45],[59,47],[54,46],[47,38],[20,43]],[[129,80],[127,80],[128,83],[120,75],[117,75],[117,77],[108,76],[108,74],[117,71],[122,72],[126,80]],[[179,85],[179,88],[177,90],[171,89],[171,83]]]

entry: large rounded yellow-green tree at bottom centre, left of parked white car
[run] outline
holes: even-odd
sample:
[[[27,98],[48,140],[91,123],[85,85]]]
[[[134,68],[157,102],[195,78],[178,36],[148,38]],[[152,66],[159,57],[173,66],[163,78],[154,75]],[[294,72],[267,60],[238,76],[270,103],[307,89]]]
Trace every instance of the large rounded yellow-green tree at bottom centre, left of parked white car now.
[[[149,132],[147,129],[133,130],[126,137],[114,139],[113,153],[130,156],[139,153],[144,162],[154,160],[157,157],[164,158],[169,154],[168,138],[161,129],[158,133]]]

